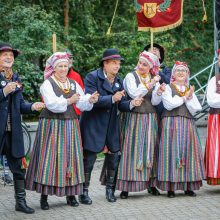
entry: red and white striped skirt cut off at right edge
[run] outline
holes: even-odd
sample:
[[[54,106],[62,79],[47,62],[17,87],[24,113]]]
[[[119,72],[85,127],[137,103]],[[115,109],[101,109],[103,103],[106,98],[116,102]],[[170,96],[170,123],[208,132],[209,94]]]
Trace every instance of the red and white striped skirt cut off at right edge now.
[[[205,150],[207,183],[220,185],[220,115],[210,114]]]

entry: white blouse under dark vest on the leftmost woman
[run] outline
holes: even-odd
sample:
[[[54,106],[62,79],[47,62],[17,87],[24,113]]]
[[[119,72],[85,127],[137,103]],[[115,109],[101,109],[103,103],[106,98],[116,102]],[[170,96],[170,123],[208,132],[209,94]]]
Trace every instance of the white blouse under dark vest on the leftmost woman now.
[[[53,77],[52,77],[53,78]],[[55,81],[55,80],[54,80]],[[56,81],[55,81],[56,82]],[[70,89],[73,84],[70,84]],[[40,87],[40,93],[44,99],[44,103],[48,110],[54,113],[62,113],[67,110],[67,99],[61,95],[60,97],[56,96],[53,87],[50,81],[47,79],[43,82]],[[90,111],[93,108],[93,104],[89,102],[90,94],[84,94],[80,85],[76,82],[76,93],[80,95],[79,101],[76,103],[76,107],[80,109],[80,111]]]

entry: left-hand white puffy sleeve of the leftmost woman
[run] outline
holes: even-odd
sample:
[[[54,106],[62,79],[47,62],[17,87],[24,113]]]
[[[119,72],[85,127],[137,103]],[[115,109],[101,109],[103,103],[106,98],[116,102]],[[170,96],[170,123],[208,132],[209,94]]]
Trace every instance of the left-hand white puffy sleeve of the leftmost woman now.
[[[40,93],[48,110],[54,113],[62,113],[67,110],[67,100],[61,95],[56,96],[49,80],[45,80],[40,87]]]

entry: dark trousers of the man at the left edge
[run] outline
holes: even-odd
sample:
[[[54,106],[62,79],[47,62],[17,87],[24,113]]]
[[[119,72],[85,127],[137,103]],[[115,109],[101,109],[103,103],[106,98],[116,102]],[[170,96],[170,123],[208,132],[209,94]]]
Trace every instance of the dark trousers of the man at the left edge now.
[[[25,169],[22,169],[21,158],[15,158],[11,154],[11,132],[6,132],[3,140],[2,155],[6,155],[8,166],[14,180],[25,180]]]

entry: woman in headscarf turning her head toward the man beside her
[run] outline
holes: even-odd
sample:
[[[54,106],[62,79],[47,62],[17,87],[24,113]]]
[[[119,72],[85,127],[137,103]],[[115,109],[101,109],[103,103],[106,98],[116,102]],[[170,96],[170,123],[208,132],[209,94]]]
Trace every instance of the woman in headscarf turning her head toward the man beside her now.
[[[121,160],[116,189],[122,191],[122,199],[127,199],[129,192],[156,186],[158,118],[154,106],[160,103],[163,91],[158,72],[157,56],[144,51],[139,55],[135,70],[128,73],[123,81],[130,98],[143,97],[144,101],[132,112],[121,115]]]

